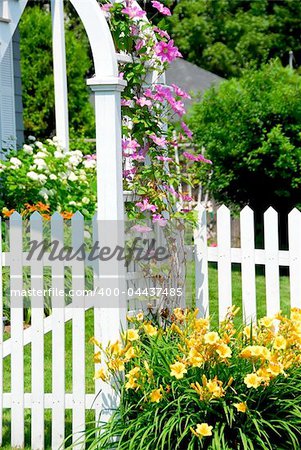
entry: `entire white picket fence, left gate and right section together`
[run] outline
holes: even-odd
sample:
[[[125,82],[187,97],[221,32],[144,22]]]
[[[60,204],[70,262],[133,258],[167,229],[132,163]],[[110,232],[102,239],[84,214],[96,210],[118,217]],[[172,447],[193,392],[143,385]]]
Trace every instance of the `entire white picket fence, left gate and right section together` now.
[[[246,207],[240,216],[240,248],[231,248],[231,217],[230,211],[222,206],[217,213],[217,247],[209,247],[207,243],[206,211],[199,208],[198,227],[194,236],[195,274],[196,274],[196,305],[202,315],[210,313],[208,264],[217,263],[218,267],[218,297],[219,318],[222,319],[227,308],[232,304],[232,264],[241,264],[242,304],[246,320],[256,318],[256,273],[257,264],[265,266],[266,306],[267,313],[273,314],[280,309],[279,267],[287,266],[290,271],[291,306],[301,307],[301,212],[294,209],[289,215],[289,250],[279,250],[278,215],[269,208],[264,216],[264,249],[255,249],[254,214]],[[59,214],[51,220],[51,238],[64,245],[64,223]],[[76,213],[71,223],[71,241],[73,249],[78,249],[85,242],[85,224],[80,213]],[[39,214],[34,213],[30,219],[30,239],[41,241],[43,238],[43,221]],[[93,237],[94,242],[96,236]],[[9,249],[1,246],[0,233],[0,316],[3,316],[3,268],[10,269],[10,289],[23,289],[24,267],[30,267],[30,287],[37,291],[44,288],[44,268],[51,267],[51,287],[57,291],[65,288],[65,268],[71,267],[71,288],[84,291],[85,261],[49,261],[45,255],[42,261],[28,261],[28,251],[24,250],[22,235],[22,218],[13,214],[9,226]],[[4,248],[5,251],[1,251]],[[95,267],[94,276],[97,276]],[[4,271],[3,271],[4,272]],[[4,274],[3,274],[4,278]],[[128,285],[135,285],[141,278],[141,273],[132,271],[127,274]],[[142,280],[145,282],[145,280]],[[133,284],[134,283],[134,284]],[[62,307],[62,297],[55,292],[51,298],[52,314],[44,316],[43,295],[31,299],[31,326],[23,326],[23,298],[12,296],[10,299],[11,335],[3,341],[3,324],[0,321],[0,445],[3,436],[3,411],[11,411],[11,447],[24,446],[25,409],[31,410],[31,448],[43,449],[45,438],[45,410],[52,410],[51,446],[58,450],[65,438],[65,412],[72,410],[72,431],[84,431],[86,411],[95,411],[98,417],[104,406],[104,398],[98,396],[101,388],[99,380],[95,382],[93,393],[87,393],[85,384],[85,314],[92,308],[96,337],[101,332],[103,321],[100,308],[92,298],[76,296],[71,304]],[[141,305],[140,305],[141,306]],[[133,309],[133,305],[129,306]],[[134,305],[134,309],[139,305]],[[72,361],[65,360],[65,325],[72,321]],[[110,326],[110,324],[106,324]],[[45,392],[44,386],[44,339],[46,333],[52,334],[52,389]],[[101,336],[100,336],[101,337]],[[31,390],[24,390],[24,347],[31,344]],[[91,348],[91,357],[92,357]],[[11,357],[10,389],[3,391],[3,362]],[[72,370],[72,392],[66,392],[66,366]],[[46,374],[47,375],[47,374]],[[7,420],[7,419],[6,419]],[[77,433],[77,434],[76,434]],[[7,444],[7,442],[5,442]],[[80,446],[78,445],[78,448]]]

